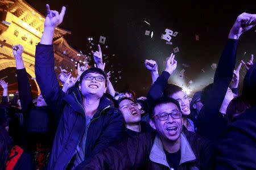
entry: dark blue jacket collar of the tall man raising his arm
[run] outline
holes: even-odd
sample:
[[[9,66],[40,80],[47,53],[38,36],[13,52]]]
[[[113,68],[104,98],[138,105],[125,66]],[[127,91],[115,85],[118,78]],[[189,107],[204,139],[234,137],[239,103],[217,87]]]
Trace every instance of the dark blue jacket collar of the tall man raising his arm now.
[[[78,88],[73,88],[69,95],[65,95],[64,100],[76,111],[84,114],[84,107],[82,105],[82,96]],[[102,96],[100,99],[100,104],[98,106],[98,112],[102,111],[111,104],[111,101]],[[96,113],[96,114],[97,114]],[[94,115],[96,115],[94,114]]]

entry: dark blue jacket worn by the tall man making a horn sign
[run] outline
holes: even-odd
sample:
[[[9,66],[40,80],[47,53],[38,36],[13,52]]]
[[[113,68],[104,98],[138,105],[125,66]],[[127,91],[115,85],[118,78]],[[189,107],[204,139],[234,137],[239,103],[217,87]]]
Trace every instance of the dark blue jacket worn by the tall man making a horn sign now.
[[[47,169],[65,169],[75,155],[76,147],[85,131],[82,97],[77,88],[73,88],[69,95],[61,90],[54,71],[52,45],[37,45],[35,58],[36,81],[44,100],[59,120]],[[110,103],[102,97],[98,111],[88,125],[85,160],[122,138],[122,114]]]

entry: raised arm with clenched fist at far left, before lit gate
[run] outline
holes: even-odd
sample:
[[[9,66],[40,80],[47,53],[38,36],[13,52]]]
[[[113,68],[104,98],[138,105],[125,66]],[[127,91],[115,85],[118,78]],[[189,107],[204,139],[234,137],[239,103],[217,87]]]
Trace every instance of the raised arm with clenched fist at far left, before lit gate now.
[[[26,113],[29,108],[34,106],[34,104],[30,87],[30,81],[28,79],[27,71],[25,69],[22,58],[23,51],[24,49],[22,45],[18,44],[13,46],[13,55],[15,57],[16,63],[20,105],[22,107],[22,112]]]

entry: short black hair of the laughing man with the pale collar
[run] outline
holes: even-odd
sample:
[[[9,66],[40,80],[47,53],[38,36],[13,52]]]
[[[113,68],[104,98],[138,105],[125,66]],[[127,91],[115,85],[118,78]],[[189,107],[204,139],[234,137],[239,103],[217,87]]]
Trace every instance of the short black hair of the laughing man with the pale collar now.
[[[175,99],[172,99],[171,97],[167,97],[167,96],[163,96],[163,97],[160,97],[158,99],[156,99],[154,101],[154,103],[150,106],[150,112],[148,113],[149,114],[149,117],[150,119],[154,116],[154,109],[157,105],[160,105],[160,104],[167,104],[167,103],[173,103],[177,106],[177,108],[179,109],[179,111],[181,111],[180,109],[180,104],[177,100]]]

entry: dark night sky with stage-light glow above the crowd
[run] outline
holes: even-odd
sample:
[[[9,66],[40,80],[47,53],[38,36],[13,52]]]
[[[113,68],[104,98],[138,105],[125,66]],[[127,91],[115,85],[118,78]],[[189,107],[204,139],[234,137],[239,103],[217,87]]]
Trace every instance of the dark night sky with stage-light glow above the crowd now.
[[[182,63],[190,66],[184,68],[186,71],[182,84],[187,87],[189,80],[193,80],[195,90],[199,90],[205,85],[202,81],[206,84],[212,82],[214,71],[210,65],[218,62],[233,22],[242,12],[256,12],[255,1],[229,1],[229,5],[228,1],[225,1],[226,5],[223,4],[224,1],[27,2],[44,15],[46,3],[49,3],[51,9],[58,11],[62,5],[66,6],[67,12],[60,27],[72,32],[71,35],[65,36],[65,39],[83,53],[90,51],[88,37],[93,37],[93,49],[96,50],[100,35],[105,36],[105,45],[108,45],[108,48],[102,45],[102,51],[109,56],[105,59],[106,70],[114,71],[111,80],[115,89],[122,91],[129,88],[139,95],[146,95],[151,84],[151,76],[144,67],[144,60],[155,59],[161,73],[164,69],[164,58],[170,56],[176,46],[180,50],[176,53],[176,72],[179,73],[184,68]],[[146,24],[144,20],[151,25]],[[172,45],[167,45],[160,39],[166,28],[179,32],[172,38]],[[255,29],[240,38],[237,61],[247,60],[250,54],[256,54]],[[154,32],[152,39],[144,35],[146,30]],[[196,41],[196,34],[199,35],[200,41]],[[204,69],[205,73],[201,69]],[[115,77],[119,79],[117,71],[122,71],[122,79],[115,83]],[[241,74],[245,74],[244,68]]]

